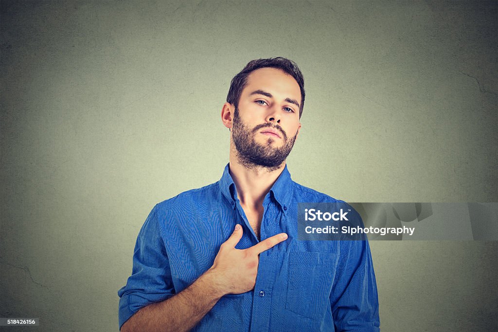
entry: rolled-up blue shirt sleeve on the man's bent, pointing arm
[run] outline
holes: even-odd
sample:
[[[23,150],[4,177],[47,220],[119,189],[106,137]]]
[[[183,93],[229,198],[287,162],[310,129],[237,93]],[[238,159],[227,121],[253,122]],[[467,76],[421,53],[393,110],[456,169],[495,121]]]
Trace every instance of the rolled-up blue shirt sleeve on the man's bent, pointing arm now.
[[[138,233],[131,276],[126,286],[118,291],[120,330],[124,322],[142,307],[164,301],[175,294],[156,209],[157,205]]]

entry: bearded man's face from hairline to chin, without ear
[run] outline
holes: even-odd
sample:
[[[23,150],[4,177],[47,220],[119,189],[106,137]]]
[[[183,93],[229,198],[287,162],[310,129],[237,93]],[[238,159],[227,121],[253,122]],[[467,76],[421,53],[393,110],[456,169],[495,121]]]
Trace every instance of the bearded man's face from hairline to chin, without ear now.
[[[261,68],[249,74],[232,124],[232,139],[242,165],[282,165],[301,127],[300,103],[299,85],[285,72]]]

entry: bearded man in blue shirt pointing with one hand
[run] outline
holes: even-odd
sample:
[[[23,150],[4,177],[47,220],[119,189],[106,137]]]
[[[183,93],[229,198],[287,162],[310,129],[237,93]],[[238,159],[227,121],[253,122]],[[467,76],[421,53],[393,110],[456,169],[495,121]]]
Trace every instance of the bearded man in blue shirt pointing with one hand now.
[[[337,202],[291,180],[304,80],[285,58],[232,80],[221,179],[154,206],[118,295],[121,331],[379,331],[367,241],[299,241],[298,202]]]

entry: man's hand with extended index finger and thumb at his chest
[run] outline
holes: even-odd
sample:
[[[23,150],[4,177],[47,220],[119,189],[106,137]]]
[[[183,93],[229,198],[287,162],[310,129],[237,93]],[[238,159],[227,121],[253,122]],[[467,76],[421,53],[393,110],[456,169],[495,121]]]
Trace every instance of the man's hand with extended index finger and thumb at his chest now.
[[[287,239],[287,234],[280,233],[250,248],[235,249],[242,233],[241,225],[237,224],[234,233],[221,245],[213,266],[208,270],[222,294],[242,294],[254,289],[259,254]]]

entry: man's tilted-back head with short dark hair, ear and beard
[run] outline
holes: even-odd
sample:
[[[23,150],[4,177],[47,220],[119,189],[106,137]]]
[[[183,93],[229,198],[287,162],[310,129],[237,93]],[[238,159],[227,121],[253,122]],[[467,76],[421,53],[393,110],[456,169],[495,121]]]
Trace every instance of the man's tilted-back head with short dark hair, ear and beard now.
[[[250,61],[234,77],[222,120],[231,128],[240,164],[270,170],[282,165],[301,128],[303,83],[297,66],[284,58]]]

